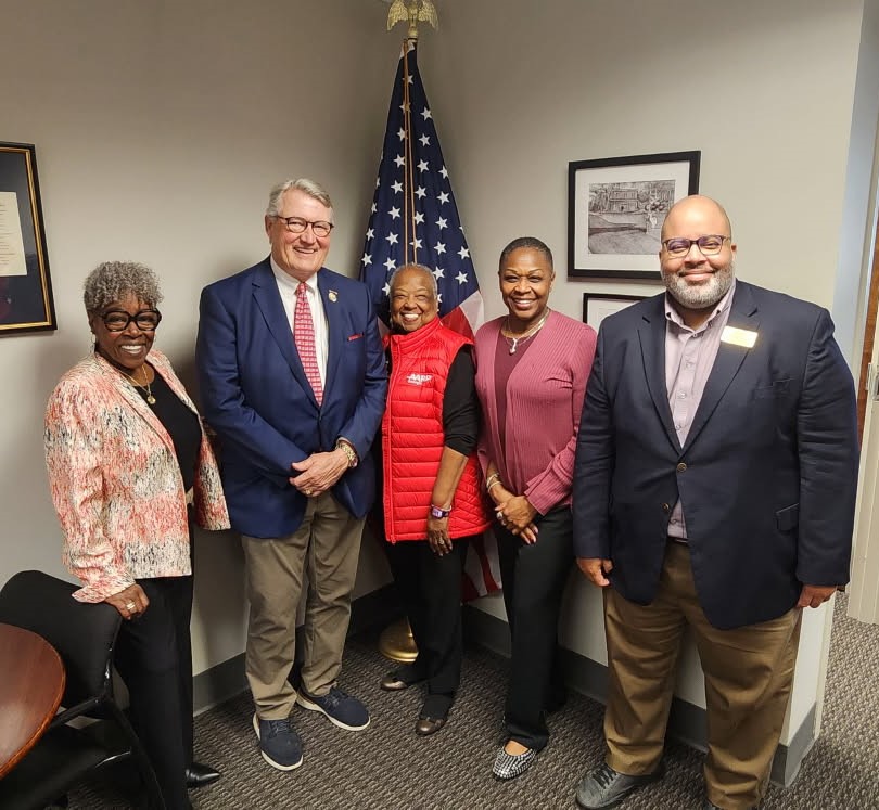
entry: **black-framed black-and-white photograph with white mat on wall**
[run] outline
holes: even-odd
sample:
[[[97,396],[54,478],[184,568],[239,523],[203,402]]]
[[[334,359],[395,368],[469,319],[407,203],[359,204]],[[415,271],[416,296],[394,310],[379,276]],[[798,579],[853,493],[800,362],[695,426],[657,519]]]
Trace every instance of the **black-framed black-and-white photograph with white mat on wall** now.
[[[701,152],[568,164],[568,277],[660,280],[668,209],[699,191]]]

